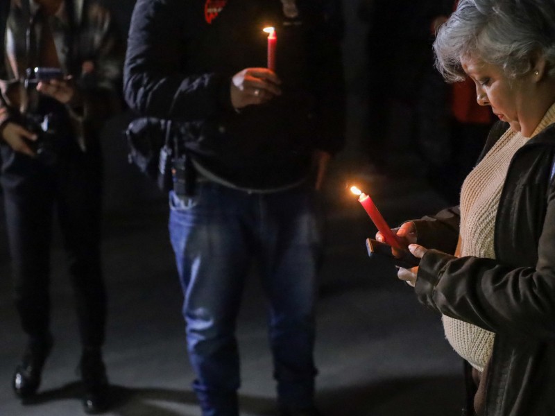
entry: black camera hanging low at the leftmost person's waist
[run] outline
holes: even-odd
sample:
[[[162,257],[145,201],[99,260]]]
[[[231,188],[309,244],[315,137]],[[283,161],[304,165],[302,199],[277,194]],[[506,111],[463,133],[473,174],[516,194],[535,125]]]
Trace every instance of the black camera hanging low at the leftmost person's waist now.
[[[24,127],[37,135],[35,141],[28,141],[35,151],[37,159],[46,166],[53,166],[58,161],[56,152],[56,131],[58,118],[54,114],[26,114]]]

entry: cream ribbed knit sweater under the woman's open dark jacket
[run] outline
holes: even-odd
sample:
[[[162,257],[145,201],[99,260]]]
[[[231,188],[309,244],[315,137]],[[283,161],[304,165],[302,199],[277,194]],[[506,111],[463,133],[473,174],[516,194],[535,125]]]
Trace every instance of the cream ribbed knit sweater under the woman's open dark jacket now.
[[[533,132],[537,135],[555,122],[555,105]],[[457,257],[475,256],[495,259],[493,234],[495,216],[509,162],[528,137],[507,130],[488,154],[470,172],[461,189],[461,227]],[[473,324],[443,315],[445,336],[454,350],[480,372],[488,363],[495,334]]]

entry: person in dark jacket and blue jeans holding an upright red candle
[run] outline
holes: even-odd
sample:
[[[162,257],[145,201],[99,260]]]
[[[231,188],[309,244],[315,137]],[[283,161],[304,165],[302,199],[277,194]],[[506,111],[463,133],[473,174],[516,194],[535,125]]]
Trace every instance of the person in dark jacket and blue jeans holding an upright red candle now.
[[[126,100],[183,132],[175,170],[185,166],[187,183],[170,191],[169,228],[204,416],[238,415],[234,328],[253,260],[269,300],[281,415],[316,415],[322,239],[314,198],[342,145],[341,20],[332,12],[338,6],[295,0],[135,6]],[[278,39],[275,71],[266,68],[266,26]]]

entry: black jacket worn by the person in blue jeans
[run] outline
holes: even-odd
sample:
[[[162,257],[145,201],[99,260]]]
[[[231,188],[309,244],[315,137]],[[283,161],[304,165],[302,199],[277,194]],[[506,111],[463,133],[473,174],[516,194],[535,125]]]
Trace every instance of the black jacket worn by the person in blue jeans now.
[[[185,123],[195,162],[239,187],[298,182],[314,150],[343,144],[341,24],[325,1],[289,3],[297,17],[280,0],[139,0],[133,12],[126,101],[141,116]],[[266,67],[265,26],[276,28],[284,93],[238,114],[230,80]]]

